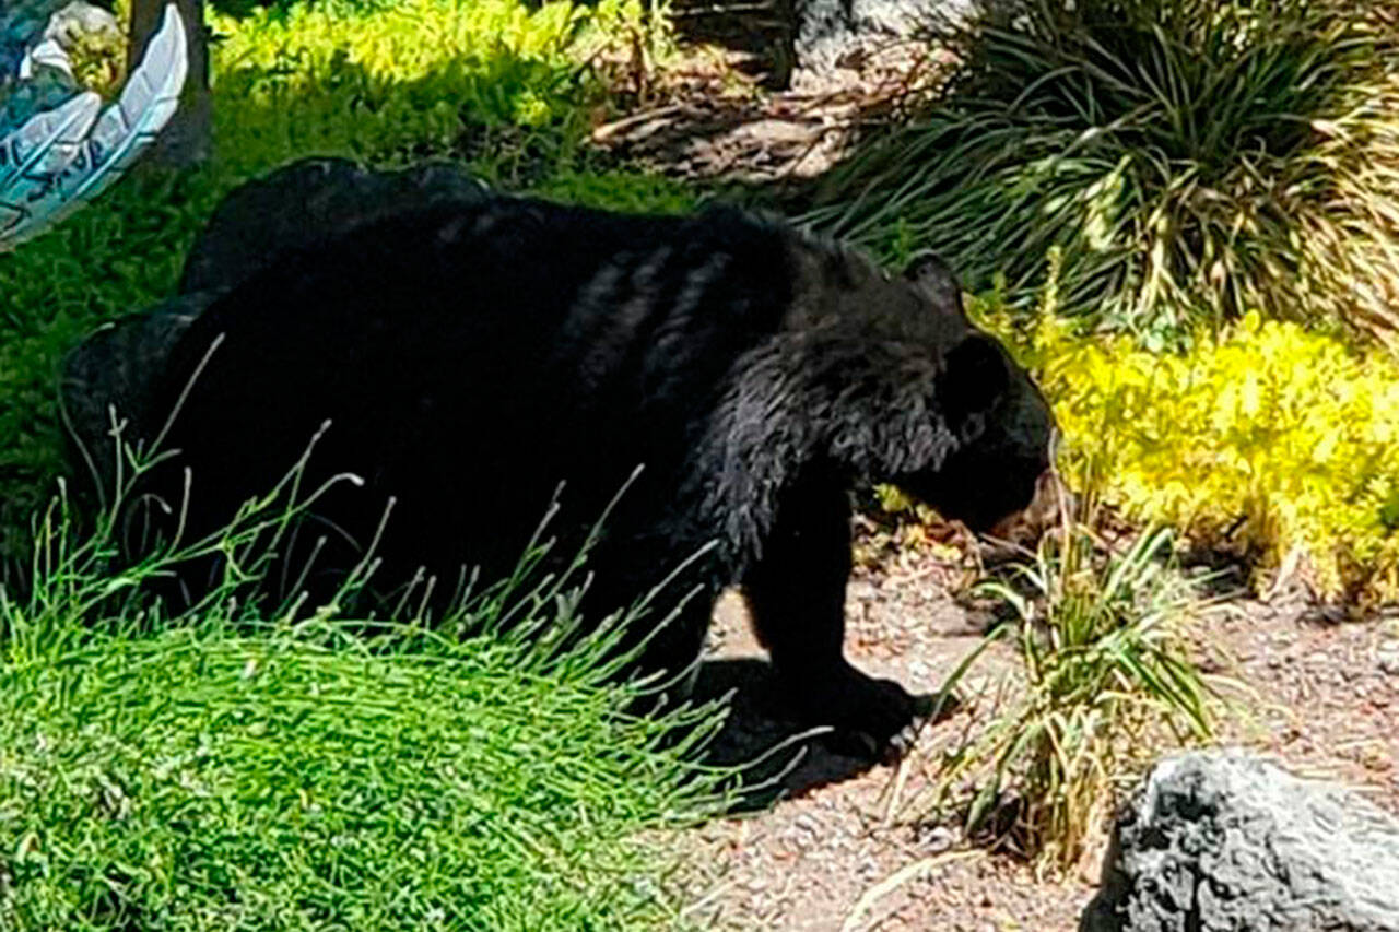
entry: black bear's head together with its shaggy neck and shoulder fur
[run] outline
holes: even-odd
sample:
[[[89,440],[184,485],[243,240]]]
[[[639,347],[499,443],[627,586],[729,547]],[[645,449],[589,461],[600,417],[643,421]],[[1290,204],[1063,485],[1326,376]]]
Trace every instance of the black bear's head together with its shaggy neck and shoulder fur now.
[[[783,326],[740,357],[693,460],[700,523],[741,565],[779,511],[802,507],[793,488],[890,483],[972,530],[1034,533],[1055,504],[1053,417],[968,320],[947,267],[926,256],[890,276],[813,241],[795,256]]]

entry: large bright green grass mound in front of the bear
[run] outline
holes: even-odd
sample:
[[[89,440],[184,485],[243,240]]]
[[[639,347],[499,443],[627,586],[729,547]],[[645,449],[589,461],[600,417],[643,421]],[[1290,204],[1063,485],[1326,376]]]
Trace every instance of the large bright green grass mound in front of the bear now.
[[[579,564],[534,550],[432,628],[264,621],[236,579],[176,619],[144,595],[290,514],[113,575],[111,522],[49,512],[0,588],[0,928],[684,925],[655,830],[722,803],[690,763],[713,711],[625,711],[627,621],[568,635]]]

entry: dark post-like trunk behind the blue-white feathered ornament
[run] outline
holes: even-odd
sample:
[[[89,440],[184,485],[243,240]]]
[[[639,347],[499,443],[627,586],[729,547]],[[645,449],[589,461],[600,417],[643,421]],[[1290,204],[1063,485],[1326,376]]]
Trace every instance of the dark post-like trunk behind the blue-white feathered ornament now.
[[[134,0],[132,35],[127,45],[127,71],[145,53],[145,45],[161,25],[168,0]],[[148,160],[168,168],[185,168],[208,158],[213,150],[213,98],[208,90],[208,28],[204,25],[203,0],[175,0],[185,35],[189,38],[189,77],[180,94],[179,109],[151,147]]]

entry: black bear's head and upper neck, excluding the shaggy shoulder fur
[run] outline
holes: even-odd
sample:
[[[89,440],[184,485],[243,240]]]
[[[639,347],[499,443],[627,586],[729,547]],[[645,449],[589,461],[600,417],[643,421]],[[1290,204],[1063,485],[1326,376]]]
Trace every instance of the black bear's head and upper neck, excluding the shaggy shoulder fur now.
[[[902,276],[841,256],[834,305],[809,313],[789,341],[792,392],[827,425],[830,462],[859,481],[891,483],[977,532],[999,533],[1052,497],[1056,430],[1030,375],[963,308],[936,257]],[[851,269],[855,269],[851,273]],[[823,413],[824,414],[818,414]],[[1038,523],[1038,521],[1035,522]]]

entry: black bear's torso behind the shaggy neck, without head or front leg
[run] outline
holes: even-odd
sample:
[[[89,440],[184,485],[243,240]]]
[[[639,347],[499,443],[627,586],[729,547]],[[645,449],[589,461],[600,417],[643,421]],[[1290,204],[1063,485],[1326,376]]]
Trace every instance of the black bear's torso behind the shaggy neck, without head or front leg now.
[[[276,483],[325,421],[311,479],[362,476],[375,515],[443,483],[476,491],[424,523],[541,514],[562,479],[595,509],[638,463],[663,483],[729,369],[783,326],[800,242],[737,211],[498,197],[287,253],[214,301],[166,368],[157,410],[185,396],[168,446],[206,490],[196,530]]]

